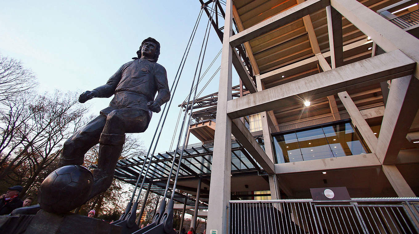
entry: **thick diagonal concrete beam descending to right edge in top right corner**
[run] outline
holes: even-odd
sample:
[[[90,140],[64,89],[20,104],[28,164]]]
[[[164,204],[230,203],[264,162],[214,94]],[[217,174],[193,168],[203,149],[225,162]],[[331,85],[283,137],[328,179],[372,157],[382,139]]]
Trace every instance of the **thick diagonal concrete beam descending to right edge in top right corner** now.
[[[419,40],[414,36],[357,0],[331,0],[330,4],[384,51],[400,49],[416,63],[419,62]],[[414,76],[419,78],[419,66],[416,66]]]

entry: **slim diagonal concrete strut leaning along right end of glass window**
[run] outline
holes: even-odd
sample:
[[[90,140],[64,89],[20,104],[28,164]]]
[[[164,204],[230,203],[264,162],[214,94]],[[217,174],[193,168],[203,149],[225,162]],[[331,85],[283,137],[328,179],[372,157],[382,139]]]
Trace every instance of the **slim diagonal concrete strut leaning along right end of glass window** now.
[[[348,111],[349,116],[351,116],[352,123],[358,128],[358,131],[360,131],[362,138],[364,138],[371,152],[375,153],[378,140],[372,132],[367,121],[365,121],[364,117],[362,117],[361,112],[358,110],[354,101],[352,101],[351,97],[346,91],[338,93],[338,96]]]

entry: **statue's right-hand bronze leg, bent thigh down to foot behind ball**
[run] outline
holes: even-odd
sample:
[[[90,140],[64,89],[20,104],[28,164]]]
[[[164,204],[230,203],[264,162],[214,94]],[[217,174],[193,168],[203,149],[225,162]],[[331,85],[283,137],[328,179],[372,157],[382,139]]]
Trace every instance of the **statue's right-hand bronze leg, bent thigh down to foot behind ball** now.
[[[98,169],[93,170],[93,190],[89,199],[111,186],[116,162],[121,156],[125,133],[143,132],[150,118],[146,111],[124,108],[111,111],[99,139]]]

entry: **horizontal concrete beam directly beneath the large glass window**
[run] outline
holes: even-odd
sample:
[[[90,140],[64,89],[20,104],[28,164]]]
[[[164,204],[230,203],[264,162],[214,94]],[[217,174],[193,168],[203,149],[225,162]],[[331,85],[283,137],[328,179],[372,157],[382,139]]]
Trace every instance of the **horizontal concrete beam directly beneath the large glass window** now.
[[[275,172],[277,175],[282,175],[325,170],[353,169],[359,167],[381,167],[381,163],[375,154],[358,154],[292,163],[279,163],[275,164]]]

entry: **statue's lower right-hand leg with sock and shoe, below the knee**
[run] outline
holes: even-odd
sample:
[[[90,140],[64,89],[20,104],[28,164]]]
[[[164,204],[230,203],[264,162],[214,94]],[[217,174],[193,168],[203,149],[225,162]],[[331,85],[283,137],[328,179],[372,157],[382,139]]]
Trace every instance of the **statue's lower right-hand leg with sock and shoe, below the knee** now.
[[[121,156],[125,135],[101,134],[99,139],[98,169],[93,170],[93,190],[88,200],[106,191],[114,178],[116,162]]]

